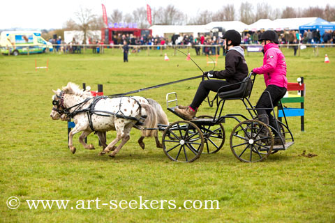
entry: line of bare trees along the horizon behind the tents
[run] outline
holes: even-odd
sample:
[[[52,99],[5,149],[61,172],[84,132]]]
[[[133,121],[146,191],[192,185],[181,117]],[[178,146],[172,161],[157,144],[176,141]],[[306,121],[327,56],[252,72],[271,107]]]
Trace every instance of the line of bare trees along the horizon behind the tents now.
[[[315,2],[317,3],[317,2]],[[280,18],[297,17],[320,17],[327,21],[335,21],[335,6],[327,4],[323,8],[320,6],[309,6],[308,8],[292,8],[286,6],[283,9],[272,8],[269,3],[257,3],[253,5],[246,1],[241,3],[239,8],[233,4],[227,4],[219,8],[216,12],[202,10],[198,15],[189,17],[179,8],[172,6],[161,6],[151,8],[152,24],[155,25],[204,25],[214,21],[234,21],[238,20],[245,24],[252,24],[260,19],[276,20]],[[140,7],[132,13],[123,13],[119,9],[112,10],[108,16],[108,23],[116,22],[136,22],[141,29],[149,28],[147,22],[147,8]],[[87,29],[103,27],[102,16],[94,15],[88,8],[80,8],[75,13],[75,18],[68,20],[64,24],[64,29]]]

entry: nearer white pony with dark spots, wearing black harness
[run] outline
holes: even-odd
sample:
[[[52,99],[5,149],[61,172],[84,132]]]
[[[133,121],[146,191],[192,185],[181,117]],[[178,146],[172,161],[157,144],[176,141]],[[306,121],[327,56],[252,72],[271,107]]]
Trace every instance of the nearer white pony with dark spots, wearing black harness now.
[[[117,131],[117,138],[110,144],[105,144],[105,148],[99,155],[113,151],[110,156],[114,157],[119,150],[130,139],[131,128],[140,121],[141,116],[147,116],[144,125],[147,128],[157,128],[158,118],[154,112],[154,107],[144,103],[145,98],[121,97],[121,98],[91,98],[91,93],[83,91],[71,82],[63,87],[62,91],[54,91],[52,97],[51,118],[54,120],[66,120],[66,116],[72,116],[75,128],[68,134],[68,147],[72,153],[76,148],[73,146],[73,135],[82,132],[79,137],[80,143],[87,149],[94,149],[93,145],[84,142],[84,138],[91,132],[96,131],[99,138],[102,132],[110,130]],[[98,100],[97,100],[98,99]],[[145,136],[154,136],[157,130],[149,130]],[[115,144],[121,140],[117,148]],[[101,140],[103,142],[103,140]]]

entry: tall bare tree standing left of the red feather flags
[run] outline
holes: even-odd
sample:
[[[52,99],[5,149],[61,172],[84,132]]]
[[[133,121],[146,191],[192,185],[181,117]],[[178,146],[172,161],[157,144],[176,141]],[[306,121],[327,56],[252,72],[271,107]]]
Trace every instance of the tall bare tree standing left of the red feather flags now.
[[[78,20],[77,26],[79,26],[80,31],[84,33],[83,43],[86,43],[87,31],[92,30],[96,22],[96,15],[92,14],[91,9],[80,7],[80,9],[75,12],[75,17],[77,17]]]

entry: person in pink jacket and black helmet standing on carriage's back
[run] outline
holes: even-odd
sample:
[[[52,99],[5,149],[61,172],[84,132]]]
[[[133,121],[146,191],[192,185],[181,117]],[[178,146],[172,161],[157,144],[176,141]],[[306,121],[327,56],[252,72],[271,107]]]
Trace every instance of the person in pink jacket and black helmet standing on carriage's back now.
[[[271,115],[271,102],[274,107],[283,98],[288,89],[288,79],[286,78],[285,56],[278,47],[278,35],[276,32],[268,30],[260,36],[260,43],[264,47],[263,66],[254,68],[252,72],[264,75],[267,88],[260,96],[256,109],[258,120],[267,125],[271,125],[278,131],[276,120]],[[271,95],[271,99],[270,99]],[[262,109],[264,108],[264,109]],[[279,132],[279,131],[278,131]],[[277,136],[275,132],[275,137]],[[275,144],[276,144],[275,140]]]

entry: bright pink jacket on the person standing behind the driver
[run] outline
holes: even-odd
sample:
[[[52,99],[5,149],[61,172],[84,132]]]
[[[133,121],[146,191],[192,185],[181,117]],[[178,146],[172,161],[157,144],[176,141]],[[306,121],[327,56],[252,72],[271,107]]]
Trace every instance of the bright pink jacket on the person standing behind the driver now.
[[[264,74],[266,86],[273,84],[287,89],[288,79],[286,78],[284,54],[275,43],[265,45],[264,50],[263,66],[254,68],[253,72],[256,74]]]

